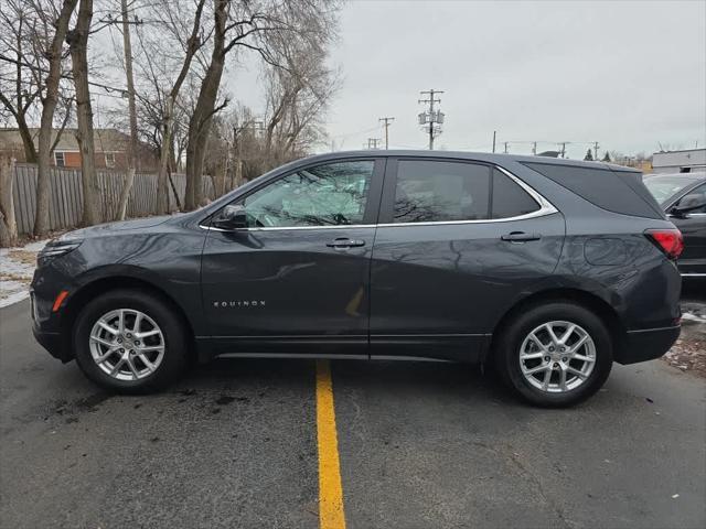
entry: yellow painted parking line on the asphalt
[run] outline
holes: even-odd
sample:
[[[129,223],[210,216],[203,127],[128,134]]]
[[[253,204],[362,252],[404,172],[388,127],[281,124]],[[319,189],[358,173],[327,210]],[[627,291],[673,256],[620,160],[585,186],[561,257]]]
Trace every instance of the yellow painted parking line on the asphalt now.
[[[319,527],[345,529],[343,487],[335,432],[333,385],[329,360],[317,360],[317,435],[319,442]]]

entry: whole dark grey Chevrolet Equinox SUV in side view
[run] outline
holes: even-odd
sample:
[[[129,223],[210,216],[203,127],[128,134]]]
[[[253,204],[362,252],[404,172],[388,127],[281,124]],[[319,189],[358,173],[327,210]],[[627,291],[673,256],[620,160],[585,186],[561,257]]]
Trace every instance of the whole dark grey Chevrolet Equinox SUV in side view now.
[[[34,333],[121,392],[190,359],[494,365],[565,406],[680,334],[681,235],[640,173],[462,152],[300,160],[171,217],[50,242]]]

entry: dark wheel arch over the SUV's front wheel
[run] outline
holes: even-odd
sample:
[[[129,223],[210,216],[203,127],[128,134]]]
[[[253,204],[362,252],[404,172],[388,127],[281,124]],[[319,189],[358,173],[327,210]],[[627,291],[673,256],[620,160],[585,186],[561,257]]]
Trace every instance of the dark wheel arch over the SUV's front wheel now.
[[[159,288],[154,283],[141,279],[135,278],[131,276],[109,276],[94,279],[93,281],[83,284],[81,289],[74,292],[66,301],[66,305],[62,309],[62,317],[60,321],[60,326],[62,330],[63,336],[63,347],[66,352],[72,352],[73,357],[73,327],[81,313],[83,306],[88,303],[95,296],[106,293],[113,290],[120,289],[137,289],[141,292],[146,292],[160,301],[167,304],[176,317],[179,317],[184,323],[184,328],[186,330],[190,347],[190,355],[195,355],[196,346],[195,346],[195,333],[192,322],[186,316],[184,310],[176,303],[176,301],[169,295],[163,289]]]

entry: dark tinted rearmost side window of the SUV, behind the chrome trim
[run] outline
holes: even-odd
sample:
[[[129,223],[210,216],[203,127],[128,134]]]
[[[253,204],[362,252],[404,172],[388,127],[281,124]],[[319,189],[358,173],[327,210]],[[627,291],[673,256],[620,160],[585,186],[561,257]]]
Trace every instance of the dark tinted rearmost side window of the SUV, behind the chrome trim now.
[[[663,218],[659,204],[637,173],[534,162],[524,165],[609,212]]]

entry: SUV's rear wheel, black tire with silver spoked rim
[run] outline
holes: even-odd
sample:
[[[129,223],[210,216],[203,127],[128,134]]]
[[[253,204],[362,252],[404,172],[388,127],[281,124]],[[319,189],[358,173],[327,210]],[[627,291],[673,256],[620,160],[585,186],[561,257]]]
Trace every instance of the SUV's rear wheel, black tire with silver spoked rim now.
[[[564,338],[571,325],[566,344],[553,342],[549,327],[554,336]],[[596,393],[613,363],[606,324],[592,311],[570,302],[523,311],[499,331],[495,344],[495,367],[505,385],[525,401],[546,408],[574,406]]]

